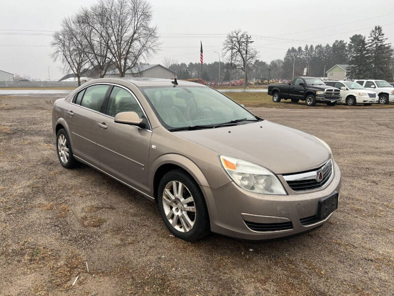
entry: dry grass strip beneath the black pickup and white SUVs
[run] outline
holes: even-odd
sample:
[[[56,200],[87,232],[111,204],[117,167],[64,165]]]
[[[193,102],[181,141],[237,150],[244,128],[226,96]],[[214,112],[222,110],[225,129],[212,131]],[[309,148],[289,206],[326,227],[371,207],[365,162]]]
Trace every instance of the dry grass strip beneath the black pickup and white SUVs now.
[[[304,101],[292,103],[290,100],[282,100],[280,103],[272,102],[272,97],[267,93],[224,93],[239,104],[245,107],[264,107],[264,108],[286,108],[286,109],[382,109],[394,108],[394,104],[380,105],[374,104],[372,106],[356,105],[346,106],[344,104],[337,104],[335,106],[327,106],[325,103],[317,103],[315,107],[307,107]]]

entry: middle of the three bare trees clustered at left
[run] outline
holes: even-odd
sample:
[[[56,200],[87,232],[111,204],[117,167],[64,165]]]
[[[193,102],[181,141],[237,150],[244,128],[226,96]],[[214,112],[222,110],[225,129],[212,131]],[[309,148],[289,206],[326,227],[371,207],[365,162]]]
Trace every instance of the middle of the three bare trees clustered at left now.
[[[102,7],[93,5],[82,8],[73,18],[70,30],[76,42],[89,60],[89,66],[102,78],[106,74],[110,63],[109,39],[106,32],[106,18],[102,17]],[[81,37],[81,38],[79,38]]]

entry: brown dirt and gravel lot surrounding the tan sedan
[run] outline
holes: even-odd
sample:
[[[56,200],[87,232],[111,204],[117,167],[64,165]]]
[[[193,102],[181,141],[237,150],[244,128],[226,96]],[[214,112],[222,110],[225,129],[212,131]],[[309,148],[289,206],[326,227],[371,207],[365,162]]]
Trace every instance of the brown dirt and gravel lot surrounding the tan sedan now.
[[[189,243],[155,203],[88,166],[60,165],[55,99],[0,96],[1,296],[393,295],[393,109],[251,108],[331,146],[339,208],[293,238]]]

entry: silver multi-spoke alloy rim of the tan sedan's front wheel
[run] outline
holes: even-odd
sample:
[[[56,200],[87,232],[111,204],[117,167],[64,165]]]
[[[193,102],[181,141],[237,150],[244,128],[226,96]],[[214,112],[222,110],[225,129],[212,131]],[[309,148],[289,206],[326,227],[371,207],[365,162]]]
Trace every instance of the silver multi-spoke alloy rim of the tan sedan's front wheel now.
[[[196,205],[189,189],[179,181],[168,182],[163,191],[163,208],[168,222],[180,232],[189,232],[196,222]]]

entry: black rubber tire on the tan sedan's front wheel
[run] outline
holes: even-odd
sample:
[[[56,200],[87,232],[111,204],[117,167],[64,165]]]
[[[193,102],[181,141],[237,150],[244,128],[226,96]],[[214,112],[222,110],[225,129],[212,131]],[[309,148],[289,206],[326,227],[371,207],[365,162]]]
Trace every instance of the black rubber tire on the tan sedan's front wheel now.
[[[181,182],[186,188],[183,189],[183,192],[185,194],[189,193],[194,199],[194,202],[192,202],[192,206],[194,203],[196,212],[194,213],[194,217],[189,217],[191,220],[194,218],[194,225],[193,227],[188,230],[187,232],[182,232],[180,230],[175,229],[169,220],[166,217],[165,210],[164,210],[164,188],[167,184],[170,184],[172,181],[178,181]],[[208,215],[208,210],[205,204],[205,199],[204,196],[202,195],[202,192],[197,185],[196,181],[185,171],[179,169],[179,170],[174,170],[166,173],[162,180],[160,181],[159,184],[159,189],[158,189],[158,206],[159,206],[159,211],[160,214],[163,218],[164,224],[167,226],[168,230],[175,235],[176,237],[179,237],[183,240],[186,241],[195,241],[200,238],[203,238],[204,236],[208,235],[210,233],[210,224],[209,224],[209,215]],[[167,204],[167,203],[166,203]],[[179,204],[179,203],[178,203]],[[190,207],[190,203],[187,204],[188,207]],[[170,205],[166,205],[167,211],[174,213],[175,211],[179,213],[178,206],[172,207]],[[184,209],[182,209],[184,210]],[[180,211],[182,212],[182,211]],[[185,212],[185,211],[183,211]],[[188,215],[192,215],[193,212],[187,212]],[[175,215],[172,214],[173,219],[175,218]],[[178,216],[180,217],[180,216]],[[172,219],[172,221],[174,221]],[[181,218],[177,218],[177,221],[180,221]],[[182,229],[184,229],[183,224]]]

